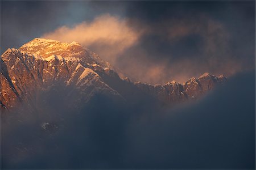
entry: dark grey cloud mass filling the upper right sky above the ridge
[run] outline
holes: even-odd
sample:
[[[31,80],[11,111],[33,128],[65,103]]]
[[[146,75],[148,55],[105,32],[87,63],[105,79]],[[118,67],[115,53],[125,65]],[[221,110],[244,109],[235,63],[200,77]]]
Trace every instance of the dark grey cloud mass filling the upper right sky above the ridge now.
[[[150,31],[123,53],[119,65],[130,76],[136,74],[127,60],[137,67],[145,63],[148,70],[164,68],[151,81],[143,75],[135,77],[138,80],[183,82],[204,72],[230,76],[255,67],[255,2],[135,2],[126,15],[139,21],[131,20],[131,27],[147,25]],[[146,74],[147,69],[137,72]]]

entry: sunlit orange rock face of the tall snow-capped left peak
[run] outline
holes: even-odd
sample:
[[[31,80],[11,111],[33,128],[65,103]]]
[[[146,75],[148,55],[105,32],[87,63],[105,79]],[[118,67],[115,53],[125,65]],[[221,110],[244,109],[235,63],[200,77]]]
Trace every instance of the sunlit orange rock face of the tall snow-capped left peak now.
[[[35,106],[39,102],[37,101],[38,92],[47,91],[57,84],[65,84],[67,87],[75,86],[76,90],[80,91],[80,95],[76,97],[77,100],[85,102],[96,92],[120,96],[117,91],[105,84],[96,73],[96,71],[102,74],[105,74],[105,71],[108,72],[107,62],[95,58],[92,55],[96,54],[82,49],[81,46],[80,48],[73,48],[72,52],[69,51],[70,56],[75,54],[75,57],[73,57],[74,55],[72,57],[56,56],[55,52],[49,56],[48,53],[51,53],[51,51],[46,50],[47,48],[44,48],[44,46],[52,46],[52,43],[60,44],[59,41],[34,39],[20,49],[8,49],[2,54],[0,74],[1,108],[12,108],[20,103]],[[59,45],[58,48],[70,49],[74,44],[65,43]],[[29,46],[29,48],[26,46]],[[43,52],[40,53],[42,56],[35,52],[34,46],[36,50],[43,49]],[[78,45],[75,44],[75,46]],[[28,51],[24,51],[24,49]],[[79,51],[76,51],[76,49]],[[53,48],[52,50],[57,49]],[[59,51],[57,52],[59,53]],[[35,55],[32,53],[35,53]],[[44,53],[46,53],[45,56]],[[80,54],[80,56],[77,57],[77,54]],[[68,53],[64,52],[64,55],[68,55]],[[75,92],[73,95],[77,95]]]

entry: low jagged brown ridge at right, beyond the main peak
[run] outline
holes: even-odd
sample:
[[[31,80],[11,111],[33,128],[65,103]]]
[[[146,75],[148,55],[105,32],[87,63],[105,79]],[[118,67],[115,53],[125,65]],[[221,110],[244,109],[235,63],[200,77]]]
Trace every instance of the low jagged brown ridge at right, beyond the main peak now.
[[[147,94],[158,97],[164,103],[174,104],[189,99],[197,99],[212,90],[217,84],[224,83],[225,81],[226,78],[223,75],[217,77],[205,73],[198,79],[193,77],[183,84],[171,82],[164,85],[151,86],[137,82],[135,85]]]

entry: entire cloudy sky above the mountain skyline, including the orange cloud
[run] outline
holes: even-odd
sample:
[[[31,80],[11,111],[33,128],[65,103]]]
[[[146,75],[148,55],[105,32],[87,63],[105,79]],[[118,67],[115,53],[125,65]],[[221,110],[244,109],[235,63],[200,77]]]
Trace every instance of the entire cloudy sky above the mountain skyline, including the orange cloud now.
[[[35,37],[80,42],[135,81],[255,68],[255,1],[1,1],[1,53]]]

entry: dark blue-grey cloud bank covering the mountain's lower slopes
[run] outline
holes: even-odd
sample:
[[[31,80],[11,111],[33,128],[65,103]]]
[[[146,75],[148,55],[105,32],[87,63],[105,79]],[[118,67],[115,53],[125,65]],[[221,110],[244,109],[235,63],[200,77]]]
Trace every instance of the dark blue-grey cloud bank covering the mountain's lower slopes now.
[[[82,111],[61,103],[43,105],[39,118],[1,118],[1,168],[255,168],[255,72],[172,109],[153,100],[123,104],[102,95]],[[59,128],[44,131],[42,122]]]

